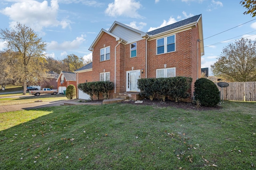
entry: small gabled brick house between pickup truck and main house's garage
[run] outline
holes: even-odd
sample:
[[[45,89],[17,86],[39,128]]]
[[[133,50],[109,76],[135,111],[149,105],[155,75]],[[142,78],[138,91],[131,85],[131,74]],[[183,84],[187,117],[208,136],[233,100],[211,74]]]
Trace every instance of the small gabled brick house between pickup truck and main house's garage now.
[[[76,73],[74,72],[61,71],[56,82],[58,82],[58,93],[64,93],[64,90],[66,90],[70,84],[73,84],[77,91]]]

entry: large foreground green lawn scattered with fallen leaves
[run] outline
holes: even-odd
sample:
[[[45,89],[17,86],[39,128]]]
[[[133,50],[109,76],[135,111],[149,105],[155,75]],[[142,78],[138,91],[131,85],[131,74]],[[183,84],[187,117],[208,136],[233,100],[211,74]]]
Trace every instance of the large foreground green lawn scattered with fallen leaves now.
[[[108,104],[1,113],[0,168],[255,169],[255,106],[225,102],[219,110],[196,111]]]

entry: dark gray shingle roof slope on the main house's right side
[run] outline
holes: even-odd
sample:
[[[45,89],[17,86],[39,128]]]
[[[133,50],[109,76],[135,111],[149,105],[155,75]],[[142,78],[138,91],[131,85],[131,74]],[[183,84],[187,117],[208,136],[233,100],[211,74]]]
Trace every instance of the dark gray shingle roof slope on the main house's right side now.
[[[158,29],[155,29],[153,31],[149,31],[149,32],[147,32],[147,34],[148,35],[156,35],[158,33],[162,33],[162,32],[177,28],[177,27],[181,27],[183,25],[187,25],[189,23],[196,22],[200,18],[200,16],[201,16],[201,14],[197,15],[197,16],[193,16],[193,17],[185,19],[185,20],[182,20],[182,21],[178,21],[178,22],[173,23],[171,25],[167,25],[165,27],[158,28]]]

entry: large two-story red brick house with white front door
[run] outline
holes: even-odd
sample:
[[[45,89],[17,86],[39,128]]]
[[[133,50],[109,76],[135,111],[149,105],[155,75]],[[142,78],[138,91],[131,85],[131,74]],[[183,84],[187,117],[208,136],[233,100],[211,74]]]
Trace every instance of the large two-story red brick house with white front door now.
[[[92,68],[79,69],[78,84],[84,82],[82,74],[87,81],[114,82],[110,98],[116,98],[123,92],[140,92],[140,78],[186,76],[193,78],[186,100],[191,101],[204,55],[202,15],[147,33],[115,21],[108,31],[101,29],[89,50]]]

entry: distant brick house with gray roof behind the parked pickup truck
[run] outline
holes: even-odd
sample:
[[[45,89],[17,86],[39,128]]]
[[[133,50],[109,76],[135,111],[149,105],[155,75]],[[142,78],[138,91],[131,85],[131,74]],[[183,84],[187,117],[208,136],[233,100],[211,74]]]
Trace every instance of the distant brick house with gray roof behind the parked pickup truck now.
[[[37,83],[34,84],[28,84],[28,86],[32,86],[35,88],[38,88],[38,90],[41,90],[42,88],[52,88],[52,89],[57,89],[58,84],[56,82],[59,74],[54,72],[54,71],[49,71],[47,73],[47,80],[45,82],[43,81],[38,81]]]

